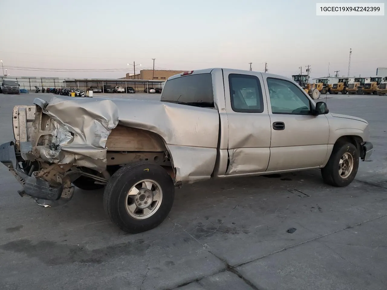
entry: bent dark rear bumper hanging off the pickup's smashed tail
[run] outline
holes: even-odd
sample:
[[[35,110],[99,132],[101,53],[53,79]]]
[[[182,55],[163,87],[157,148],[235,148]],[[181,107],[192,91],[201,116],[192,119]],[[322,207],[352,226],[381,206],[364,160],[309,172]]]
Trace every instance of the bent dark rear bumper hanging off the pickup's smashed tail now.
[[[32,197],[39,205],[46,207],[62,204],[63,201],[60,197],[63,191],[63,184],[54,187],[44,179],[29,176],[21,169],[19,162],[22,160],[18,159],[21,159],[21,157],[17,157],[15,154],[14,142],[0,145],[0,162],[8,168],[16,180],[23,186],[23,189],[18,191],[18,193],[21,196],[27,195]]]

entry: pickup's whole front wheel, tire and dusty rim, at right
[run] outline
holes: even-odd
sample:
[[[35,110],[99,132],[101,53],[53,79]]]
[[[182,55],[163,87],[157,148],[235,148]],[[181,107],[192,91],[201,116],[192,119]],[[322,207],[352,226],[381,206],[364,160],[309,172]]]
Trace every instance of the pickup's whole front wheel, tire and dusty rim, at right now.
[[[328,163],[321,169],[324,182],[337,187],[349,185],[358,172],[359,155],[358,149],[352,143],[335,144]]]

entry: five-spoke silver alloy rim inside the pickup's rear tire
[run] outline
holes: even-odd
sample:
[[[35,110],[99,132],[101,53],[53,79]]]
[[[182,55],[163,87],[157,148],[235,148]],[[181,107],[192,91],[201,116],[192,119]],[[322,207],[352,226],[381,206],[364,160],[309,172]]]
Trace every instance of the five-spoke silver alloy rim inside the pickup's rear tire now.
[[[137,220],[149,218],[159,209],[163,200],[161,186],[154,180],[145,179],[136,183],[126,197],[126,210]]]

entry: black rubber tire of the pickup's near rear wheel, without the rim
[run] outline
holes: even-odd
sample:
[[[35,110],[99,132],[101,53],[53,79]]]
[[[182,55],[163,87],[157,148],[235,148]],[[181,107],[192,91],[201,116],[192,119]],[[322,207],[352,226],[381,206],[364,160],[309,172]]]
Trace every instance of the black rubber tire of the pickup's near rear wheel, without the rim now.
[[[159,184],[162,199],[158,209],[151,216],[138,219],[128,213],[127,194],[131,188],[145,179]],[[173,180],[163,167],[153,163],[136,162],[121,167],[111,176],[103,194],[103,205],[113,223],[124,232],[136,234],[154,229],[162,223],[172,208],[174,198]]]

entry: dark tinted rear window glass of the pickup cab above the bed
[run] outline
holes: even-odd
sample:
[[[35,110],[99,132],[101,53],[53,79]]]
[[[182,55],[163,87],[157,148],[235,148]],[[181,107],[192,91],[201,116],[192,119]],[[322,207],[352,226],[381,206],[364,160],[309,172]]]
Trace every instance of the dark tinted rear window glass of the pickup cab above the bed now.
[[[161,95],[162,102],[196,107],[214,107],[211,73],[186,75],[168,80]]]

